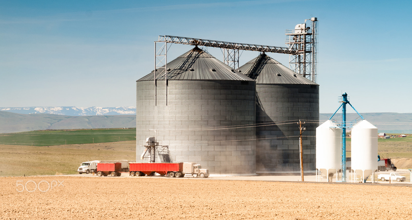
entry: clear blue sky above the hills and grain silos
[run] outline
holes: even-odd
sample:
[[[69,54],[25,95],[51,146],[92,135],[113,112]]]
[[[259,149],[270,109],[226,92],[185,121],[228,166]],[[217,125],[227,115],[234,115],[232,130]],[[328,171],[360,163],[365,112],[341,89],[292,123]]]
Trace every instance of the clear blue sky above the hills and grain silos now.
[[[320,112],[412,112],[412,1],[2,1],[0,107],[136,105],[159,35],[286,46],[319,20]],[[172,44],[168,59],[192,46]],[[220,49],[209,53],[223,60]],[[240,65],[258,55],[244,51]],[[288,66],[288,55],[268,53]]]

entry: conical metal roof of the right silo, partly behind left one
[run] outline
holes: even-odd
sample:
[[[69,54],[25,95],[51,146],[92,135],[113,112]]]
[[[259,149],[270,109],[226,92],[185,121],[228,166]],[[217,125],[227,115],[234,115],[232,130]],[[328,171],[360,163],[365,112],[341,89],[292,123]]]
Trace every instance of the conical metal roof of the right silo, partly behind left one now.
[[[256,80],[256,84],[309,84],[318,85],[295,73],[262,53],[239,68],[241,73]]]

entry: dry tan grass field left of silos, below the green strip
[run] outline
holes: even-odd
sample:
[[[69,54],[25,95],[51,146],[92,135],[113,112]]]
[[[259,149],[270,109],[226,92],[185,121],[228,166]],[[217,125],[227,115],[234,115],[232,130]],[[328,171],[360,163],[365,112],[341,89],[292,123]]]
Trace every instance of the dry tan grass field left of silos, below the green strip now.
[[[91,160],[136,160],[136,141],[56,146],[0,145],[0,176],[77,174]]]

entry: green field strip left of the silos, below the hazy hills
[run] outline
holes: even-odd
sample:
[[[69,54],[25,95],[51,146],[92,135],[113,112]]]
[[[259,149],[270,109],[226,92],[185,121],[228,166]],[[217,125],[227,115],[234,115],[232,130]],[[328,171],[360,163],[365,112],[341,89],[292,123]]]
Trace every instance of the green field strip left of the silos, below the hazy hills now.
[[[47,130],[0,134],[0,144],[53,146],[136,140],[136,128]]]

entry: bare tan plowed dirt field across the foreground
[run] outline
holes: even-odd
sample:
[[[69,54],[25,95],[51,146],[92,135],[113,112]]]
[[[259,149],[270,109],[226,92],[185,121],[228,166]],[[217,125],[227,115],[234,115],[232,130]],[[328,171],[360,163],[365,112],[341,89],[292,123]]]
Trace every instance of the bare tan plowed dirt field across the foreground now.
[[[411,198],[411,187],[372,183],[2,177],[0,219],[400,220],[412,219]]]

